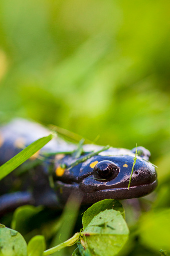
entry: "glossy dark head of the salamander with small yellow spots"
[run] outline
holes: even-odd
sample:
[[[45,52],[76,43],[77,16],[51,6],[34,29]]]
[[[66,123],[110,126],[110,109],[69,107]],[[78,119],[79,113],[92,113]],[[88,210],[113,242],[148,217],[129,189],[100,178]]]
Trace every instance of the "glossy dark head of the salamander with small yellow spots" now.
[[[137,198],[149,194],[157,185],[157,175],[154,166],[145,160],[144,153],[148,155],[149,151],[140,147],[140,152],[141,150],[142,157],[137,156],[129,190],[135,154],[127,149],[109,148],[70,170],[66,169],[60,179],[63,191],[65,182],[67,188],[77,187],[83,192],[85,203],[94,203],[105,198]]]

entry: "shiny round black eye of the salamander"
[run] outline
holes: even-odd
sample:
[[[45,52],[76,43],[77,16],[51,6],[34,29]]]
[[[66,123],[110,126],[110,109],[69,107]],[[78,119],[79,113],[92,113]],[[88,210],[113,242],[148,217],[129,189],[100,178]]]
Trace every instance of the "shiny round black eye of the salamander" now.
[[[111,161],[100,161],[94,166],[94,172],[101,178],[116,178],[119,173],[119,167]]]

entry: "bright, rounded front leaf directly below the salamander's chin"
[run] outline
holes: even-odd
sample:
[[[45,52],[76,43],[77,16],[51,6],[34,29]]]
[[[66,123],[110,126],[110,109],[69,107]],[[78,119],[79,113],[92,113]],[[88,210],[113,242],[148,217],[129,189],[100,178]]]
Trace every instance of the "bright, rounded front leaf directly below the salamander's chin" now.
[[[82,232],[92,255],[116,255],[128,239],[129,230],[119,211],[97,214]]]

